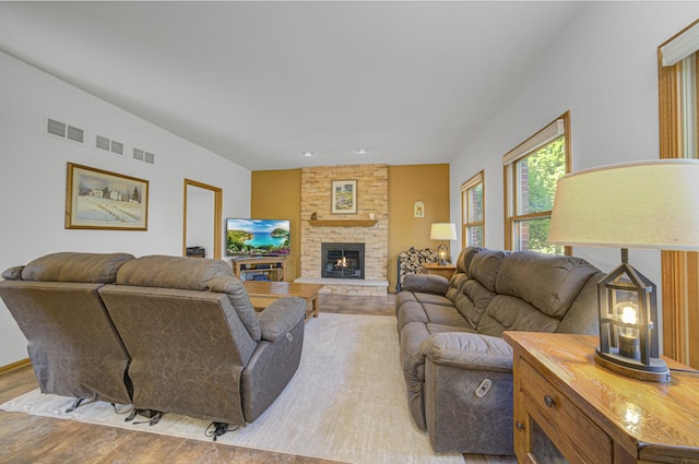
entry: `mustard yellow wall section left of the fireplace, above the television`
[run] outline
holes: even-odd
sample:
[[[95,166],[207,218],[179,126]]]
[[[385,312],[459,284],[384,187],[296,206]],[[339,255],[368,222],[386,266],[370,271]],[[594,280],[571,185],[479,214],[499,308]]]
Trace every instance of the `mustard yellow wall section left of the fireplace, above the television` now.
[[[250,187],[250,216],[259,219],[289,219],[292,252],[286,258],[284,281],[300,276],[301,170],[256,170]]]

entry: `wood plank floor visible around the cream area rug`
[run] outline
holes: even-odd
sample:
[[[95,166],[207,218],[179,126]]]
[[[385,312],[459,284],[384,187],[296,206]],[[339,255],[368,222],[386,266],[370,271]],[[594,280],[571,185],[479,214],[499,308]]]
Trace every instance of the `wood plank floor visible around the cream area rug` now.
[[[394,313],[394,295],[386,298],[321,295],[319,302],[320,317],[322,312],[380,316]],[[36,379],[31,367],[4,372],[0,374],[0,403],[36,388]],[[479,455],[464,457],[467,464],[516,462],[513,457]],[[0,463],[199,464],[226,462],[328,464],[333,461],[0,411]]]

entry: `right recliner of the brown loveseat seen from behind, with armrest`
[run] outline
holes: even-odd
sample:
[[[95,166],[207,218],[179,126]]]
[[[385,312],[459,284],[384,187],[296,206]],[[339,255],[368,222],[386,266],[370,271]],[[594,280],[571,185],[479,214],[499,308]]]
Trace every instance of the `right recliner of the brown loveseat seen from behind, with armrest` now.
[[[305,300],[258,314],[224,261],[142,257],[99,294],[131,355],[138,409],[252,423],[298,368]]]

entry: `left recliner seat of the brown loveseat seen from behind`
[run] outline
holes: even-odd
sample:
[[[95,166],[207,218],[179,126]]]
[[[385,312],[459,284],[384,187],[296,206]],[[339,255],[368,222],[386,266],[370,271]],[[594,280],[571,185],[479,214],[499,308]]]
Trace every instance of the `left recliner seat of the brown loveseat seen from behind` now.
[[[129,355],[98,290],[133,259],[60,252],[2,274],[0,297],[28,341],[42,392],[131,403]]]

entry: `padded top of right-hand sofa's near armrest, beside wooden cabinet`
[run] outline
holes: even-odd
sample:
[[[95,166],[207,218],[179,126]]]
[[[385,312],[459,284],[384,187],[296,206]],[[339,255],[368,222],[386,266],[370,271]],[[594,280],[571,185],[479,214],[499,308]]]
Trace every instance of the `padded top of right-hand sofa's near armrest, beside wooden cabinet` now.
[[[495,336],[464,332],[438,333],[425,338],[419,350],[439,366],[512,371],[512,348]]]

